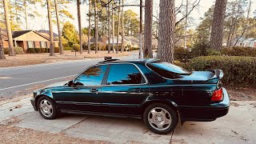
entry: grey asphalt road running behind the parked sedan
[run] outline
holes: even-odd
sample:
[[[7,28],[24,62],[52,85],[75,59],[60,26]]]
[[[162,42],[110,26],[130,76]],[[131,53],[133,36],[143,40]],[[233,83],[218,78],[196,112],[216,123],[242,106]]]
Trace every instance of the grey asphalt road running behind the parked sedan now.
[[[137,59],[138,54],[121,57],[120,59]],[[26,95],[31,90],[52,84],[67,81],[102,58],[85,59],[73,62],[58,62],[39,64],[34,66],[17,66],[0,68],[0,99]]]

